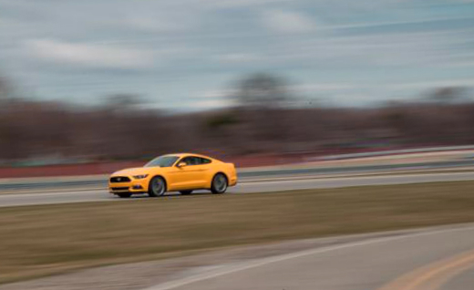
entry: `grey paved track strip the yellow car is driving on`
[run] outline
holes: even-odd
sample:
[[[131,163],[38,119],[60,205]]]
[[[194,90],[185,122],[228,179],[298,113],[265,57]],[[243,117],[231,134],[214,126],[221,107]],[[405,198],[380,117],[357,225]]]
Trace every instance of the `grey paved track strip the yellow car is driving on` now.
[[[388,185],[407,184],[419,182],[436,181],[471,181],[474,173],[451,172],[433,174],[409,174],[409,175],[385,175],[366,176],[350,178],[310,178],[299,177],[293,179],[258,179],[253,181],[242,181],[239,185],[229,189],[229,193],[252,193],[252,192],[279,192],[304,189],[325,189],[365,185]],[[208,192],[206,192],[208,193]],[[179,197],[179,194],[170,192],[168,196]],[[136,198],[147,198],[138,196]],[[134,198],[132,198],[134,199]],[[79,191],[79,192],[50,192],[50,193],[12,193],[0,194],[0,207],[36,205],[69,202],[113,202],[118,201],[105,190]],[[474,289],[474,287],[473,287]]]

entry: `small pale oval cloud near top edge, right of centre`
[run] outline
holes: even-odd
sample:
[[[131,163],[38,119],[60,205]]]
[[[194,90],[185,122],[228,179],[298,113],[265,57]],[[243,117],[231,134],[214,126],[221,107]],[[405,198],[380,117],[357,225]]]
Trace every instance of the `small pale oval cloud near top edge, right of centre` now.
[[[263,25],[277,33],[307,33],[316,28],[310,17],[283,10],[271,10],[263,13]]]

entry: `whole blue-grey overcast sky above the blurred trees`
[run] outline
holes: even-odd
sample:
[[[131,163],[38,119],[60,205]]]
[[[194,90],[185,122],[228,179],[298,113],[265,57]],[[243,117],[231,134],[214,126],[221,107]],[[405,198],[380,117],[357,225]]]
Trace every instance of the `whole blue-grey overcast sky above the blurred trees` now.
[[[0,0],[0,75],[31,98],[214,109],[254,72],[350,106],[474,86],[474,0]]]

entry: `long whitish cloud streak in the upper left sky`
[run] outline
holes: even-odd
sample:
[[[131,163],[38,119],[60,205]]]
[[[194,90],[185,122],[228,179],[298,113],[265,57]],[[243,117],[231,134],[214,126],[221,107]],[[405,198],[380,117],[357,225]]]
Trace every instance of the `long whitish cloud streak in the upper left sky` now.
[[[80,67],[139,69],[149,67],[153,56],[135,48],[68,43],[52,39],[25,42],[33,57]]]

